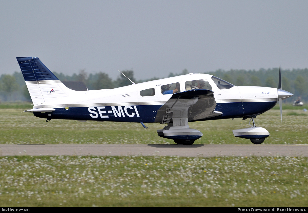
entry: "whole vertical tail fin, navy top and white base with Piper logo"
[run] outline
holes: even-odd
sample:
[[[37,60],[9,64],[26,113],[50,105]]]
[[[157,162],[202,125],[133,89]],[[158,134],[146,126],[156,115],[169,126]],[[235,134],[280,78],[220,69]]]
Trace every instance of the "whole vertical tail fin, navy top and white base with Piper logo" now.
[[[16,57],[16,59],[34,105],[50,104],[74,91],[64,86],[39,58]]]

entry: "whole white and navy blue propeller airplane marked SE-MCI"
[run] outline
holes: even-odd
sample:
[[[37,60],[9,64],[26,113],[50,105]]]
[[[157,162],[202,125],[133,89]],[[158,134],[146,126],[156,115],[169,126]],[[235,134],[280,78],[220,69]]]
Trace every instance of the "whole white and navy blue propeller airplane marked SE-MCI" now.
[[[26,81],[34,116],[51,119],[120,121],[166,124],[160,137],[192,145],[202,137],[189,122],[250,118],[250,128],[233,130],[235,137],[261,144],[270,133],[256,127],[254,118],[293,94],[277,88],[234,86],[209,74],[188,74],[114,88],[75,91],[67,88],[37,57],[17,57]]]

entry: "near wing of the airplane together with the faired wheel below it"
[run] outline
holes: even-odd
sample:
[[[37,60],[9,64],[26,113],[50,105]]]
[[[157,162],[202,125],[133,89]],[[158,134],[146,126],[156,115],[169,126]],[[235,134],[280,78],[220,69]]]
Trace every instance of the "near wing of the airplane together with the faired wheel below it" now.
[[[155,122],[168,124],[164,129],[158,129],[157,133],[178,144],[190,145],[202,137],[202,133],[190,129],[188,121],[221,115],[221,112],[214,111],[215,107],[212,90],[195,89],[173,94],[156,114]]]

